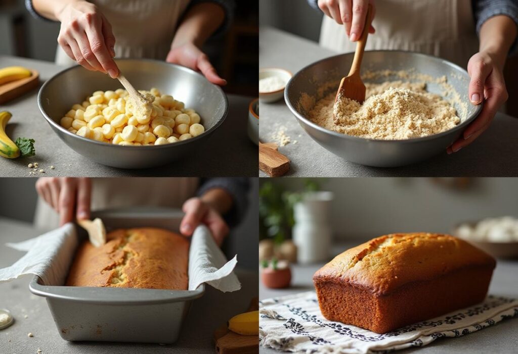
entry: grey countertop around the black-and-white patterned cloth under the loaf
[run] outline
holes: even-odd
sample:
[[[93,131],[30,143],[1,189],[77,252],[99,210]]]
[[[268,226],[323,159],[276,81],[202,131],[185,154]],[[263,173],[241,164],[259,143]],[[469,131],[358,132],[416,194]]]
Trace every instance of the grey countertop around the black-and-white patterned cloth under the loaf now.
[[[350,242],[347,244],[335,245],[333,254],[338,254],[355,245],[364,242]],[[312,277],[316,270],[320,269],[324,263],[313,265],[292,265],[291,287],[286,289],[268,289],[262,283],[259,284],[259,300],[269,299],[303,293],[304,291],[314,290]],[[497,296],[518,297],[518,261],[498,260],[489,293]],[[470,353],[486,354],[501,353],[511,354],[518,352],[518,319],[510,319],[499,322],[495,326],[484,328],[483,330],[464,335],[457,338],[445,338],[421,347],[398,350],[396,353],[408,354],[444,354],[444,353]],[[263,354],[275,354],[279,351],[260,347]]]

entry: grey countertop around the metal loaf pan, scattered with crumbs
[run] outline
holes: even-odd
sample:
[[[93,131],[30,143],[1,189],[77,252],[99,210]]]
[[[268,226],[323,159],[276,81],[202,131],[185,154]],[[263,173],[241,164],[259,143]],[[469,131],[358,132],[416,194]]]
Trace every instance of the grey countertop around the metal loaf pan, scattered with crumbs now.
[[[7,248],[6,242],[18,242],[38,236],[31,224],[0,218],[0,268],[15,263],[24,253]],[[207,286],[205,295],[194,300],[180,331],[177,343],[171,345],[67,342],[57,332],[44,298],[31,294],[28,283],[32,276],[0,284],[0,308],[8,309],[15,322],[0,330],[0,353],[214,353],[214,329],[232,316],[247,309],[257,296],[257,273],[237,270],[241,289],[222,293]],[[28,318],[24,318],[24,315]],[[34,337],[28,337],[32,332]]]

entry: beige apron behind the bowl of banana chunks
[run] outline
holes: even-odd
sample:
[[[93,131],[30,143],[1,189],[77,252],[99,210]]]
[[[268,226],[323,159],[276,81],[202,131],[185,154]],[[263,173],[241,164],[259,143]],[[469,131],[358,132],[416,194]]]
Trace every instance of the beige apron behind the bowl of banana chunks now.
[[[93,0],[111,24],[118,58],[165,60],[190,0]],[[58,45],[56,64],[75,65]]]

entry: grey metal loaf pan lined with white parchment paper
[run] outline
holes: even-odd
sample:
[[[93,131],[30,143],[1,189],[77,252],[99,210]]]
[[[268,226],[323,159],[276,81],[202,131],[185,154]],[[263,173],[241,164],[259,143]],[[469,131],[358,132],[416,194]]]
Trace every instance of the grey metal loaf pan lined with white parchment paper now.
[[[151,226],[178,232],[182,216],[183,213],[176,209],[164,208],[92,213],[92,219],[103,219],[107,231]],[[79,227],[78,237],[81,240],[87,237]],[[73,257],[70,255],[70,264]],[[56,270],[50,268],[48,271]],[[66,275],[57,278],[66,279]],[[39,276],[35,276],[29,288],[33,294],[47,298],[57,330],[66,341],[164,344],[178,339],[191,301],[205,292],[204,284],[193,291],[78,287],[42,284]]]

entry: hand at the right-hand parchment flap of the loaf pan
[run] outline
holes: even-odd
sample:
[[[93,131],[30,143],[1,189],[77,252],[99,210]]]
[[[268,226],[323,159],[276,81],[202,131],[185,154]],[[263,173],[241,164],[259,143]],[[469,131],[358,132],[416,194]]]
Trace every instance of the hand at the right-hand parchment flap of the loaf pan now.
[[[185,236],[191,236],[196,226],[200,223],[207,225],[216,243],[221,246],[223,239],[228,234],[228,226],[221,215],[208,203],[200,198],[190,198],[182,207],[185,216],[180,224],[180,232]]]

